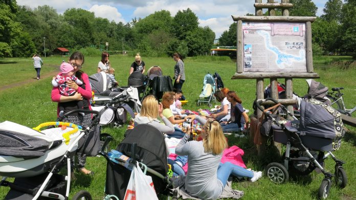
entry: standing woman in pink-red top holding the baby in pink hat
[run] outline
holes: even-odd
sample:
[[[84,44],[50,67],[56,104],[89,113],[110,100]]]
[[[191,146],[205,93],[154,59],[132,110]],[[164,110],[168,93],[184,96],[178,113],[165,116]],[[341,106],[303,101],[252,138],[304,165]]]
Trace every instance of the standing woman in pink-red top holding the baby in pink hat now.
[[[75,95],[73,96],[63,96],[59,92],[58,87],[53,87],[52,92],[51,92],[51,99],[54,102],[58,103],[65,103],[65,109],[64,109],[64,114],[77,109],[77,101],[83,101],[83,109],[88,109],[91,110],[90,106],[90,99],[92,99],[92,87],[89,82],[89,77],[87,74],[85,74],[83,71],[80,69],[82,68],[82,64],[84,63],[84,56],[80,52],[74,52],[69,60],[68,63],[70,63],[73,68],[74,68],[74,74],[75,76],[83,82],[82,85],[78,86],[77,83],[74,81],[67,81],[66,84],[68,87],[73,88],[75,91]],[[59,117],[59,109],[57,108],[57,116]],[[92,122],[92,116],[91,114],[85,114],[84,116],[78,115],[78,114],[73,114],[70,116],[66,116],[63,121],[71,122],[77,125],[80,125],[84,128],[86,128],[88,125],[91,124]],[[86,162],[86,155],[80,153],[78,155],[78,162],[77,162],[77,167],[80,172],[84,174],[90,174],[93,175],[94,173],[90,170],[85,169],[85,162]],[[74,164],[74,162],[72,162]],[[72,167],[72,170],[74,169],[74,166]],[[72,173],[73,174],[73,173]]]

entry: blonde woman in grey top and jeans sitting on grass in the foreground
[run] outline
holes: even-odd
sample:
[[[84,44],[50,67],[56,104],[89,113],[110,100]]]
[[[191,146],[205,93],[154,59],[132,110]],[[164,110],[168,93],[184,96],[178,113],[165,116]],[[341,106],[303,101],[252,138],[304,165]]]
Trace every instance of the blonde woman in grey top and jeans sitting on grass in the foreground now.
[[[177,155],[188,155],[188,172],[184,189],[193,197],[216,199],[224,190],[230,175],[248,177],[257,181],[262,172],[250,171],[230,162],[220,163],[227,142],[218,122],[208,121],[195,115],[195,119],[204,124],[201,137],[203,141],[190,141],[190,128],[176,146]]]

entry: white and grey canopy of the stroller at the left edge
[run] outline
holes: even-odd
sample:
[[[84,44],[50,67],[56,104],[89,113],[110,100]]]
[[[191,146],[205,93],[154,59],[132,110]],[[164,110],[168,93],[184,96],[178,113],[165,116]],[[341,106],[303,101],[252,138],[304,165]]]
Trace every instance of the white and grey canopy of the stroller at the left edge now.
[[[20,158],[39,157],[52,146],[53,139],[32,128],[5,121],[0,123],[0,154]]]

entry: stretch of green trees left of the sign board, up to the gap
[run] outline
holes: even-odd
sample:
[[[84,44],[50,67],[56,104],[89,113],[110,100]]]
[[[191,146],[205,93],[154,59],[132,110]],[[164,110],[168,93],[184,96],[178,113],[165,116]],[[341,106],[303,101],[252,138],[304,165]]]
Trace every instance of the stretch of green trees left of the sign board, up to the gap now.
[[[129,23],[115,23],[95,17],[80,8],[63,14],[47,5],[31,9],[16,1],[0,0],[0,57],[28,57],[34,53],[50,55],[58,47],[71,51],[86,49],[130,51],[143,56],[203,55],[210,51],[215,33],[201,27],[189,8],[171,16],[161,10]]]

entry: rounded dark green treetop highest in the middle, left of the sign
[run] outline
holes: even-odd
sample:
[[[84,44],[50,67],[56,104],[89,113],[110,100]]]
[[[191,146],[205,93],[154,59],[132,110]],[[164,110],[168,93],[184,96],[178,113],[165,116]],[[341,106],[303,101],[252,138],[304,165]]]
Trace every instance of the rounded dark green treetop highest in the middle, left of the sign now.
[[[198,25],[198,17],[188,8],[175,14],[171,30],[178,39],[185,39],[189,32],[198,28]]]

